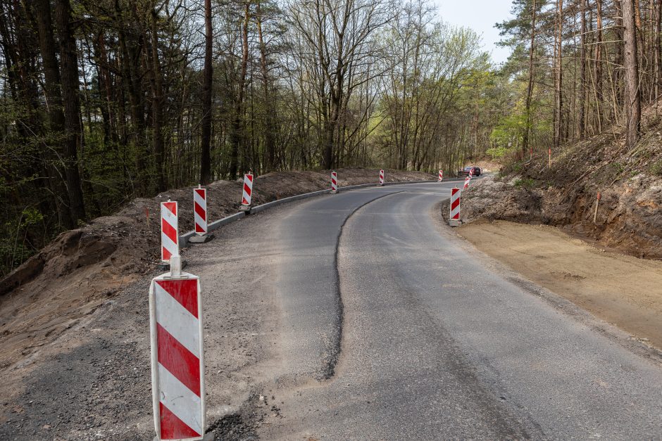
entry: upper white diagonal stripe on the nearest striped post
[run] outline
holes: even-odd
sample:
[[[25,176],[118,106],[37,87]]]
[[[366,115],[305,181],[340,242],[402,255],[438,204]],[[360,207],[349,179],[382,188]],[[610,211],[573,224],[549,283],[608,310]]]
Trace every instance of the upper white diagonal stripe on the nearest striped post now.
[[[200,358],[198,319],[158,283],[156,283],[154,295],[156,298],[156,323],[163,326],[175,340]]]

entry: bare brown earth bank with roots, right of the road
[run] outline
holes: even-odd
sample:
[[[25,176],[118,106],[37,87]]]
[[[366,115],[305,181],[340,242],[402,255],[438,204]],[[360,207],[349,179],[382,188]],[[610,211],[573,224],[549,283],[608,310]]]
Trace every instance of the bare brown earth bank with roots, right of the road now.
[[[553,152],[551,168],[544,152],[476,181],[463,194],[463,221],[549,224],[629,255],[662,259],[662,117],[654,107],[644,115],[635,148],[626,148],[615,127],[567,143]]]

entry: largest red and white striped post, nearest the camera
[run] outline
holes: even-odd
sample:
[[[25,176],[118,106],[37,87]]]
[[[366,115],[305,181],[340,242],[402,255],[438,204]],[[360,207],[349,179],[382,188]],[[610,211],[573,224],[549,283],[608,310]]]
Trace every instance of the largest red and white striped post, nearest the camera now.
[[[149,288],[151,387],[156,440],[203,440],[206,425],[202,301],[197,276],[170,273]]]

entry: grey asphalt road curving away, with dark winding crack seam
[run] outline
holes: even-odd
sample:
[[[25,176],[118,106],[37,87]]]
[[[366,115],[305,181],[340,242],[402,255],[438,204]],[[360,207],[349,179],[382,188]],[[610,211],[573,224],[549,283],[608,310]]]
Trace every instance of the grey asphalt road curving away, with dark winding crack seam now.
[[[660,439],[661,366],[441,231],[432,209],[451,186],[367,188],[274,213],[285,374],[258,435]]]

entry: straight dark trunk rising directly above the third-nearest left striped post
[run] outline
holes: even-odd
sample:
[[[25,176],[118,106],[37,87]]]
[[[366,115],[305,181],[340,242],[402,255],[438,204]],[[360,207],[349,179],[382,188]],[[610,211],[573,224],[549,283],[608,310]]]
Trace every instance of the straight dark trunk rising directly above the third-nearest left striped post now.
[[[205,54],[202,84],[202,136],[200,157],[200,182],[209,184],[211,181],[211,100],[212,100],[212,29],[211,29],[211,0],[204,2],[205,21]]]

